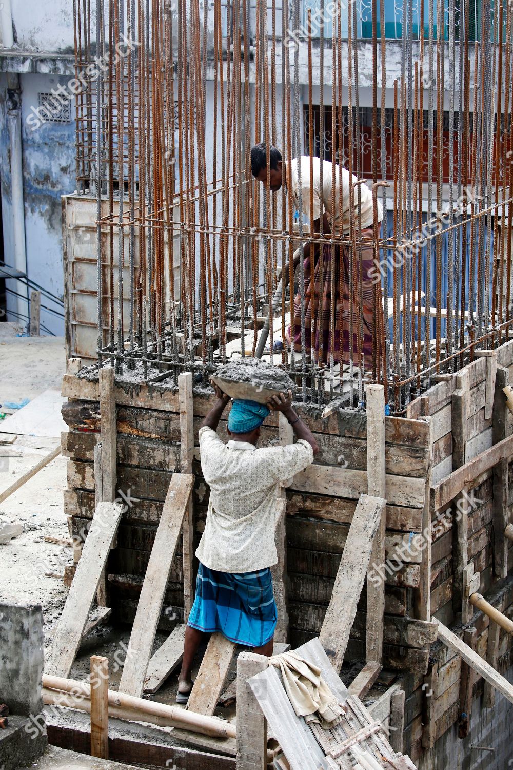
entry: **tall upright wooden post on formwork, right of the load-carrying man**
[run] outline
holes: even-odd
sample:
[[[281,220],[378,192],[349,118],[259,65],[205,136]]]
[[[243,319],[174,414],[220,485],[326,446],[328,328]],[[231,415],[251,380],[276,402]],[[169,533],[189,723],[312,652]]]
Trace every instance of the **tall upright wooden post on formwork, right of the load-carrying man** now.
[[[367,386],[367,480],[368,494],[385,498],[385,388]],[[385,562],[385,508],[378,522],[370,558],[371,569]],[[375,566],[374,566],[375,565]],[[385,581],[378,586],[367,584],[367,644],[368,661],[381,662],[383,654],[383,623],[385,620]]]

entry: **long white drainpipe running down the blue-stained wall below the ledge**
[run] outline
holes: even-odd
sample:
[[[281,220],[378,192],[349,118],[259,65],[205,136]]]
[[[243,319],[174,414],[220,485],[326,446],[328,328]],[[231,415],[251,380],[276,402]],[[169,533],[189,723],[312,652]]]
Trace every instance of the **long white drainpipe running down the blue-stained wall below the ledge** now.
[[[1,3],[0,3],[1,5]],[[25,205],[23,202],[23,160],[22,160],[22,111],[10,109],[7,113],[9,145],[11,149],[11,204],[12,204],[12,255],[5,254],[5,263],[27,274],[27,252],[25,247]],[[18,294],[26,296],[27,289],[15,279],[8,281]],[[28,302],[16,297],[16,312],[28,316]]]

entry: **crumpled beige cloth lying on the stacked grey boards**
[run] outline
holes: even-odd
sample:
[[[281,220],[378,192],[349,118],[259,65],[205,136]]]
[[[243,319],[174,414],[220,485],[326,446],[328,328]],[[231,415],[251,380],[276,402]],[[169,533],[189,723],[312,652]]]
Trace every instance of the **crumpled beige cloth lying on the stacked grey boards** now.
[[[345,709],[321,677],[320,668],[295,651],[268,658],[268,665],[280,669],[285,691],[298,717],[320,722],[324,729],[335,727]]]

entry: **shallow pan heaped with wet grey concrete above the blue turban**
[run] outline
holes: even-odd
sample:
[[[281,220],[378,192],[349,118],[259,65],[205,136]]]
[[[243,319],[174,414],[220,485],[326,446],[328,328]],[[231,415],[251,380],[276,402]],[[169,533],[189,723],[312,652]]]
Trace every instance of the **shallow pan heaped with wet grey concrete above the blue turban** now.
[[[288,374],[258,358],[237,358],[219,367],[212,380],[232,398],[267,403],[276,393],[295,386]]]

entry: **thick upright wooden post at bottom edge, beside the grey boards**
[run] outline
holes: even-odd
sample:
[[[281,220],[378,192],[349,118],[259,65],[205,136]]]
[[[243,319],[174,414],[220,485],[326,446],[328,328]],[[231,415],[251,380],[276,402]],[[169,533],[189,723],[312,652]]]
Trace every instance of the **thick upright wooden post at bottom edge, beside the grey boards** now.
[[[241,652],[237,659],[237,770],[267,768],[267,721],[248,679],[267,668],[265,655]]]

